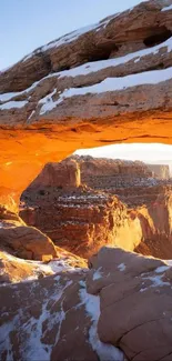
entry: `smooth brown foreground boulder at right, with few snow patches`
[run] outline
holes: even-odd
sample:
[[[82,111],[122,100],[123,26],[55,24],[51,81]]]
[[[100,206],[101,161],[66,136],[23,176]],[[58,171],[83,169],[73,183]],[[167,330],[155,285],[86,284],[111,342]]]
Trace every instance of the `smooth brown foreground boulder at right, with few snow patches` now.
[[[90,260],[88,292],[100,295],[98,334],[129,360],[172,359],[172,268],[103,248]]]

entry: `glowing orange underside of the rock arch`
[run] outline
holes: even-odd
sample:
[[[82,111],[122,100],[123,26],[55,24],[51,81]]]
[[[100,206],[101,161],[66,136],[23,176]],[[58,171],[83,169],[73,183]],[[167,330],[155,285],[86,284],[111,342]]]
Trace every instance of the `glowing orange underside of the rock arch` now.
[[[21,192],[49,161],[60,161],[77,149],[119,142],[172,144],[171,113],[150,112],[42,128],[0,130],[0,200]]]

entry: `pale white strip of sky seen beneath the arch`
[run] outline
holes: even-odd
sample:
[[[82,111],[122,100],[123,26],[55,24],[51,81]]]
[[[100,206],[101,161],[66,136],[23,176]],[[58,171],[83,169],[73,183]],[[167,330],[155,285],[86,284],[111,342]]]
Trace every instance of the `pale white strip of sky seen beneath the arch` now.
[[[169,164],[172,171],[172,146],[162,143],[122,143],[78,150],[75,154],[97,158],[141,160],[148,163]]]

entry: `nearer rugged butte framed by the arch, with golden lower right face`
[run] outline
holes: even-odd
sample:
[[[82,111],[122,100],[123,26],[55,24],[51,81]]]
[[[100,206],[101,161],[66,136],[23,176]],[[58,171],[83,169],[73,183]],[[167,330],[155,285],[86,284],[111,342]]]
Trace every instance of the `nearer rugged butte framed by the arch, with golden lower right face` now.
[[[54,184],[72,162],[67,159],[44,167],[21,195],[20,217],[49,235],[54,244],[81,257],[90,257],[104,244],[133,250],[142,238],[140,220],[130,217],[117,197],[84,185],[67,189]],[[77,169],[80,172],[79,163]]]

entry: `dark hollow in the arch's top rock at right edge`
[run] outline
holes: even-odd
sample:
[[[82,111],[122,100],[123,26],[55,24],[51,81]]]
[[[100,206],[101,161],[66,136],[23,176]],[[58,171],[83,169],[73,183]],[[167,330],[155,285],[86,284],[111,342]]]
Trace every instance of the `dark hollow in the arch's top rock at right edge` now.
[[[154,47],[172,37],[172,31],[165,27],[154,28],[153,34],[143,40],[144,46]]]

